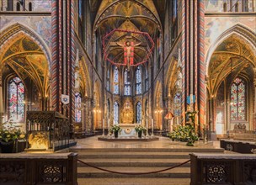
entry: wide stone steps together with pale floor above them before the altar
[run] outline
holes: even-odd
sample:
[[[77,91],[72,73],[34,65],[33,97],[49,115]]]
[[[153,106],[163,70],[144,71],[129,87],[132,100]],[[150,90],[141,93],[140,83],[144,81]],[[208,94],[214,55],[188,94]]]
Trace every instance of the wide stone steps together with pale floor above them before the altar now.
[[[167,137],[145,141],[104,141],[99,136],[77,140],[71,151],[78,153],[78,158],[93,166],[101,166],[115,172],[152,172],[163,170],[189,159],[189,153],[198,151],[220,150],[219,141],[196,141],[195,146],[186,142],[172,141]],[[152,175],[127,176],[103,172],[91,166],[78,163],[79,185],[189,185],[189,163],[167,172]]]

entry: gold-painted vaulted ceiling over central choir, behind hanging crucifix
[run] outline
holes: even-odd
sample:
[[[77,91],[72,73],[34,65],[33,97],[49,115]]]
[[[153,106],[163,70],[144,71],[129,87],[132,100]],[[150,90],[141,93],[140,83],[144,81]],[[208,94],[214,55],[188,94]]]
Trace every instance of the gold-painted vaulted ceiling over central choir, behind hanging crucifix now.
[[[109,37],[104,37],[114,29],[128,32],[115,31]],[[99,6],[93,30],[104,42],[105,54],[116,63],[124,61],[123,48],[117,42],[125,44],[129,40],[140,43],[134,50],[135,63],[139,63],[152,48],[150,38],[156,41],[162,33],[162,25],[152,0],[105,0]],[[141,32],[147,33],[150,38]]]

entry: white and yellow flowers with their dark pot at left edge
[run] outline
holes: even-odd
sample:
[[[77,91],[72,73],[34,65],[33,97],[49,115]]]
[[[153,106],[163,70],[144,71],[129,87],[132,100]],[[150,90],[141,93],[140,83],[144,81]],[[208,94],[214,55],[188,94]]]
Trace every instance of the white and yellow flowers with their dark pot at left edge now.
[[[2,153],[12,153],[15,141],[24,139],[25,135],[13,125],[13,122],[0,124],[0,146]]]

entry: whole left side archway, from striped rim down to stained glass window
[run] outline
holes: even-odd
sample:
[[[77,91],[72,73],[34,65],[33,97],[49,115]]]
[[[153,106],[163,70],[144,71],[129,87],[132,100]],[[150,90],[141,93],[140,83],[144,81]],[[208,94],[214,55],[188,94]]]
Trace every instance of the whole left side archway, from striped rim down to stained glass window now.
[[[21,24],[4,29],[0,44],[3,50],[0,55],[0,80],[3,84],[1,98],[5,99],[4,102],[1,100],[4,106],[3,121],[13,119],[14,122],[24,123],[27,110],[46,110],[50,107],[48,48],[38,35]],[[17,111],[24,114],[23,119],[15,119],[11,115],[15,111],[10,106],[12,98],[9,95],[13,93],[13,87],[9,85],[14,79],[20,79],[20,84],[24,85],[24,89],[19,90],[24,91],[24,98],[16,102],[19,103],[18,107],[22,107],[17,108]],[[19,93],[16,97],[19,97]]]

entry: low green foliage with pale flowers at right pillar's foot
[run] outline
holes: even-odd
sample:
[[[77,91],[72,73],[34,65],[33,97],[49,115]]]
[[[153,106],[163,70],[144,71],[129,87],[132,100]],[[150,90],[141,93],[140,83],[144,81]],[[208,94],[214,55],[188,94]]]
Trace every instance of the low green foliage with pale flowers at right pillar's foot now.
[[[195,140],[198,140],[198,135],[195,134],[195,129],[191,124],[185,126],[177,125],[168,136],[172,140],[187,142],[187,145],[194,145]]]

